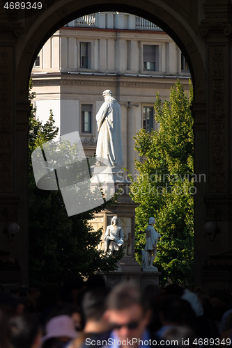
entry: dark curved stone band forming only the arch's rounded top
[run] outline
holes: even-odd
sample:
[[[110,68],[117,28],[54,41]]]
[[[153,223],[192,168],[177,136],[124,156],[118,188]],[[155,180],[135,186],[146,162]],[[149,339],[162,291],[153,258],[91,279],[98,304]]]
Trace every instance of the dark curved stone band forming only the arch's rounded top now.
[[[86,0],[59,1],[59,6],[54,4],[36,16],[32,23],[26,23],[26,40],[17,47],[17,101],[25,101],[29,77],[35,58],[42,45],[61,26],[72,19],[100,11],[116,11],[132,13],[154,22],[166,31],[176,42],[187,58],[194,85],[194,100],[203,100],[206,95],[206,70],[203,65],[205,47],[202,38],[197,35],[185,18],[176,13],[170,6],[161,1],[95,1]],[[201,90],[201,93],[197,91]]]

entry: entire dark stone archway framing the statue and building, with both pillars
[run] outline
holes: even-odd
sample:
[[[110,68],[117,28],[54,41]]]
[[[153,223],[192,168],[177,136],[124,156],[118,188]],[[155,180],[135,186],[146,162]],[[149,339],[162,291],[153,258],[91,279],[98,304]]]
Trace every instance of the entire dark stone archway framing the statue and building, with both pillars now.
[[[229,121],[224,115],[225,111],[215,113],[210,122],[210,113],[212,114],[217,108],[217,100],[221,100],[226,111],[231,111],[228,104],[229,92],[231,90],[226,74],[222,73],[222,67],[226,72],[229,68],[229,35],[231,35],[231,24],[220,19],[216,13],[219,6],[211,6],[210,0],[206,1],[205,12],[203,0],[199,1],[198,7],[196,1],[180,0],[86,0],[84,3],[79,1],[62,0],[59,3],[52,1],[43,1],[45,9],[39,11],[33,17],[22,19],[20,22],[9,22],[9,15],[6,18],[8,23],[1,26],[1,31],[7,31],[8,37],[3,40],[1,47],[0,67],[8,69],[9,78],[6,82],[8,100],[13,107],[8,108],[9,118],[12,121],[8,125],[8,142],[13,154],[7,165],[8,175],[3,177],[7,190],[2,189],[2,207],[8,205],[15,214],[15,218],[20,224],[23,232],[17,242],[17,250],[20,255],[20,264],[23,269],[23,283],[27,281],[27,255],[28,250],[28,232],[27,232],[27,198],[26,198],[26,148],[27,148],[27,116],[29,112],[29,102],[27,101],[27,88],[29,75],[36,54],[42,47],[43,43],[63,24],[69,22],[75,17],[84,14],[98,12],[100,10],[120,10],[122,12],[133,13],[149,19],[151,22],[159,25],[166,31],[173,40],[176,41],[180,49],[185,54],[190,65],[192,79],[194,83],[194,132],[195,132],[195,173],[199,175],[206,173],[208,182],[196,182],[197,194],[195,196],[195,284],[201,284],[201,269],[206,260],[206,255],[217,250],[216,244],[208,244],[203,232],[203,224],[206,219],[212,219],[215,205],[229,205],[229,176],[228,168],[231,166],[229,152],[226,152],[226,144],[230,145],[231,135],[226,133],[226,125]],[[223,2],[226,3],[226,0]],[[223,5],[223,4],[222,4]],[[222,6],[223,7],[223,6]],[[215,10],[216,9],[216,10]],[[224,8],[226,11],[229,8]],[[211,12],[210,12],[211,11]],[[215,11],[215,12],[214,12]],[[221,17],[223,17],[221,15]],[[200,22],[200,19],[202,21]],[[210,25],[212,23],[219,23]],[[217,31],[217,35],[216,35]],[[205,40],[206,39],[206,40]],[[209,44],[206,45],[209,40]],[[211,45],[210,45],[211,42]],[[5,47],[3,47],[5,45]],[[221,63],[220,63],[221,62]],[[219,95],[215,94],[216,79],[222,82]],[[3,81],[1,90],[3,91]],[[13,92],[13,93],[12,93]],[[224,97],[222,97],[224,95]],[[207,96],[207,97],[206,97]],[[1,98],[3,106],[3,98]],[[206,104],[207,101],[207,104]],[[207,125],[207,127],[206,127]],[[215,126],[216,125],[216,126]],[[216,142],[213,140],[215,127],[221,125],[220,136]],[[223,143],[222,137],[226,135],[226,143]],[[13,137],[14,136],[14,137]],[[3,162],[8,163],[7,157],[2,157]],[[223,164],[223,177],[219,177],[219,166]],[[226,175],[226,177],[225,177]],[[6,180],[7,179],[7,180]],[[217,189],[217,184],[219,189]],[[215,189],[216,187],[216,189]],[[207,200],[206,195],[208,195]],[[218,203],[213,201],[215,195],[220,195],[223,199]],[[204,199],[208,205],[206,212]],[[227,199],[227,201],[225,201]],[[210,210],[211,209],[211,210]],[[207,215],[208,214],[208,215]],[[229,230],[228,209],[226,217],[222,217],[226,230]],[[3,218],[2,218],[3,219]],[[220,219],[220,218],[219,218]],[[220,251],[227,251],[226,246],[220,244]]]

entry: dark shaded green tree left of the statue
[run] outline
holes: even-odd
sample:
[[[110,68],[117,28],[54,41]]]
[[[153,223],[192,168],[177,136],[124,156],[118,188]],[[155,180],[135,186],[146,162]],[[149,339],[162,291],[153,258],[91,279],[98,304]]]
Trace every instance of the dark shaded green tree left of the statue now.
[[[30,90],[30,89],[29,89]],[[34,95],[29,93],[29,99]],[[116,203],[116,196],[104,205],[82,214],[69,216],[65,210],[61,191],[45,191],[36,187],[31,164],[31,153],[58,134],[50,111],[44,125],[36,119],[36,109],[29,118],[29,275],[31,283],[42,285],[59,283],[65,278],[81,274],[88,276],[95,271],[112,271],[122,257],[105,255],[98,250],[102,230],[94,231],[88,221]],[[72,152],[72,148],[70,148]],[[89,191],[89,199],[95,194]]]

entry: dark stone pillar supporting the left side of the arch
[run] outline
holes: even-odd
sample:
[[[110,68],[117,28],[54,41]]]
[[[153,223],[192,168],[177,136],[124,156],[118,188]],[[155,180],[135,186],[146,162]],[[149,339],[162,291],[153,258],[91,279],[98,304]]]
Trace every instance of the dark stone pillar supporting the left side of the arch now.
[[[15,222],[20,233],[10,243],[7,235],[0,233],[1,254],[11,255],[13,268],[1,271],[1,283],[27,285],[28,283],[28,226],[27,226],[27,119],[29,102],[16,104],[15,46],[24,33],[19,24],[1,26],[0,47],[0,230],[6,222]],[[21,93],[21,91],[20,91]],[[28,90],[26,91],[26,95]],[[22,97],[24,92],[22,91]],[[25,97],[26,99],[26,97]],[[25,100],[24,99],[24,100]],[[22,134],[22,132],[24,134]],[[6,257],[6,256],[5,256]],[[2,260],[4,262],[4,260]],[[6,259],[5,259],[6,261]]]

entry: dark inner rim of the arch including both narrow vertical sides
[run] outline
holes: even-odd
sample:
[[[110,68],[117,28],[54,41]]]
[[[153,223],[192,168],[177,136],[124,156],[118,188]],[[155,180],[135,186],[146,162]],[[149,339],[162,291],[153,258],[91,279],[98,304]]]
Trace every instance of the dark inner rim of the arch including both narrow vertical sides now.
[[[187,1],[187,0],[186,0]],[[46,3],[49,1],[45,1]],[[22,283],[26,284],[28,280],[28,203],[27,203],[27,118],[29,113],[28,85],[31,69],[35,58],[42,48],[42,45],[49,37],[61,26],[70,22],[72,19],[100,11],[121,11],[132,13],[144,17],[150,22],[154,22],[166,31],[171,38],[180,47],[187,58],[190,66],[192,81],[194,86],[194,172],[208,173],[208,155],[210,152],[208,143],[208,123],[210,115],[206,117],[206,95],[210,90],[210,81],[206,79],[206,42],[203,36],[198,35],[198,18],[203,18],[203,13],[190,21],[190,15],[185,15],[181,10],[180,0],[85,0],[85,1],[67,1],[61,0],[48,6],[42,13],[24,21],[24,31],[17,38],[17,45],[14,47],[14,65],[15,65],[15,85],[13,97],[16,101],[17,132],[14,138],[15,143],[15,173],[20,173],[15,180],[15,187],[20,203],[18,212],[20,212],[19,224],[24,230],[24,235],[20,239],[19,249],[21,250],[20,260],[22,267]],[[201,1],[199,1],[201,2]],[[189,0],[187,3],[194,3]],[[178,6],[180,11],[178,11]],[[203,11],[202,8],[199,11]],[[22,23],[23,24],[23,23]],[[207,84],[207,90],[206,90]],[[155,95],[155,93],[154,93]],[[15,117],[15,116],[14,116]],[[206,122],[207,120],[207,122]],[[17,160],[16,160],[17,159]],[[206,183],[198,184],[198,194],[194,197],[195,215],[195,250],[196,257],[194,261],[194,283],[201,284],[201,269],[206,258],[206,239],[203,239],[202,226],[205,221],[205,207],[203,198],[206,195]]]

